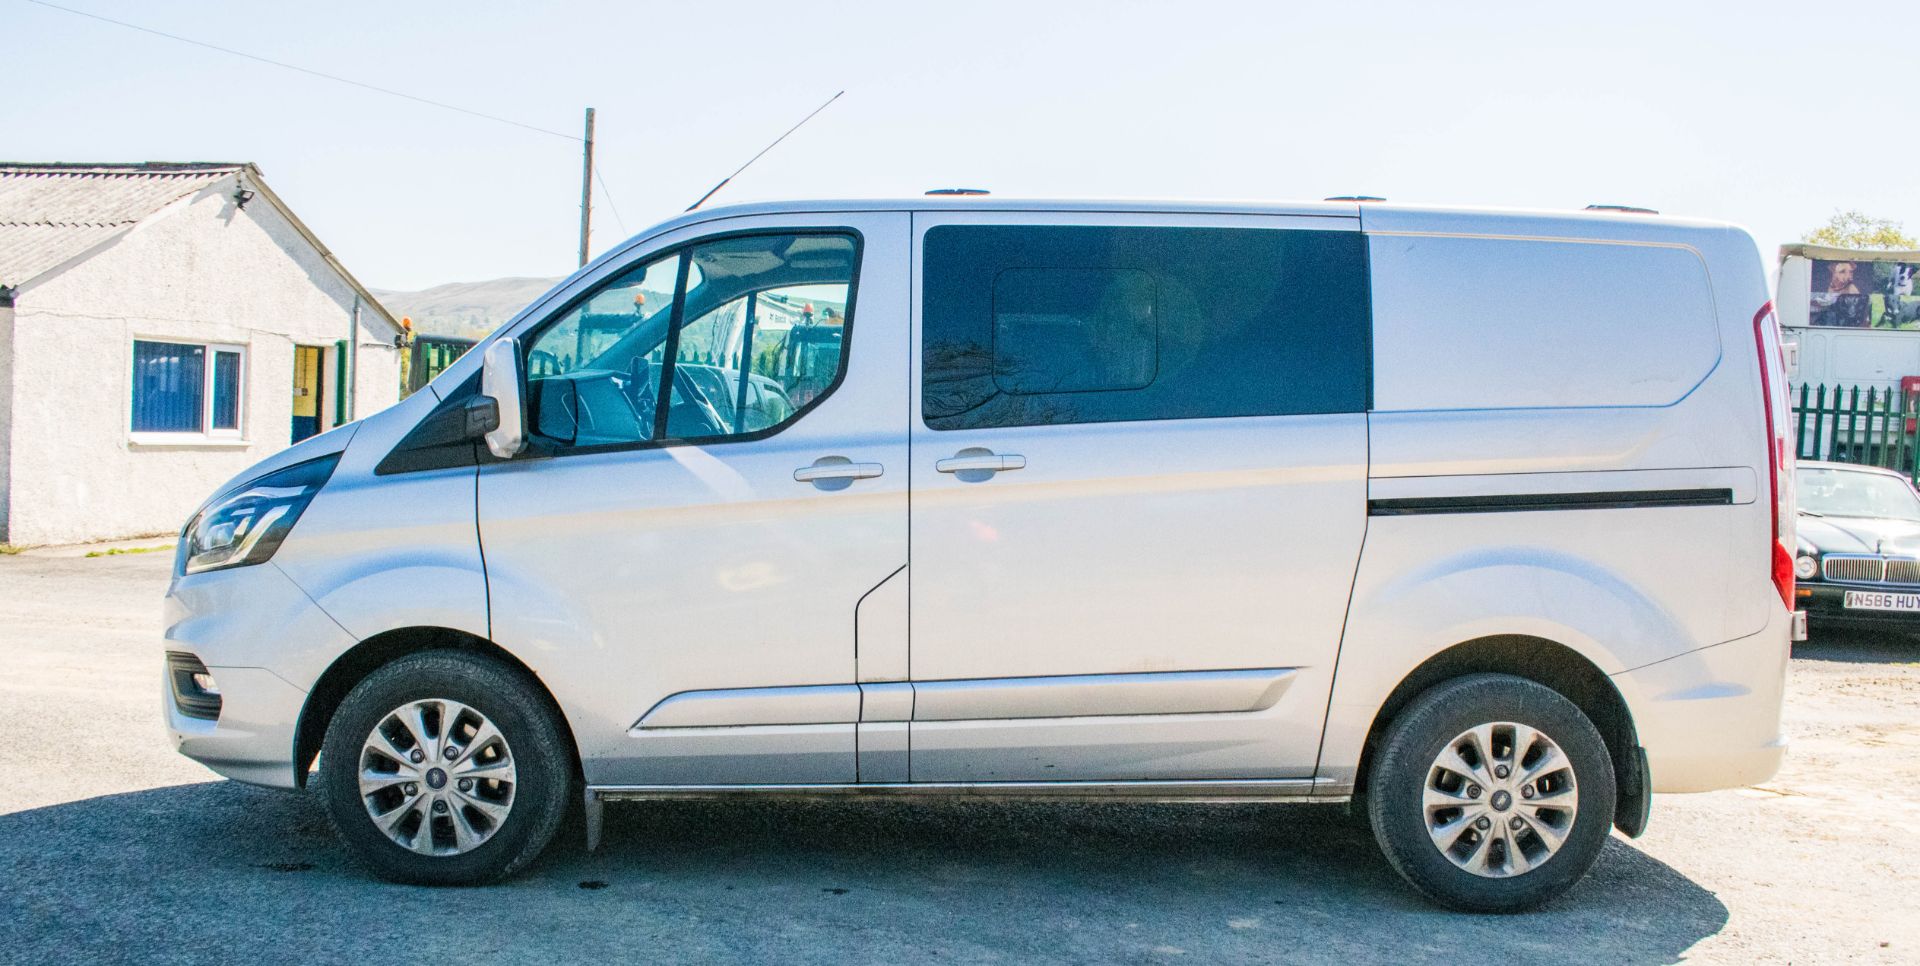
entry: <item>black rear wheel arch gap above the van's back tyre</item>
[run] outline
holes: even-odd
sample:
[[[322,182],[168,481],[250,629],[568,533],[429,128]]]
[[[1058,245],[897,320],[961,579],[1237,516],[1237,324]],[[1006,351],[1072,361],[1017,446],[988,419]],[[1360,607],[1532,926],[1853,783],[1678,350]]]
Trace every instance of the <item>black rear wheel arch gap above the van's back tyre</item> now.
[[[1645,830],[1651,795],[1645,755],[1640,751],[1634,714],[1620,689],[1580,651],[1524,634],[1501,634],[1455,643],[1428,657],[1402,678],[1367,728],[1367,737],[1359,751],[1359,766],[1354,776],[1356,795],[1367,791],[1373,755],[1388,724],[1392,724],[1400,711],[1428,688],[1463,674],[1511,674],[1551,688],[1572,701],[1594,722],[1599,737],[1607,743],[1607,757],[1613,761],[1615,785],[1619,789],[1615,826],[1634,837]]]

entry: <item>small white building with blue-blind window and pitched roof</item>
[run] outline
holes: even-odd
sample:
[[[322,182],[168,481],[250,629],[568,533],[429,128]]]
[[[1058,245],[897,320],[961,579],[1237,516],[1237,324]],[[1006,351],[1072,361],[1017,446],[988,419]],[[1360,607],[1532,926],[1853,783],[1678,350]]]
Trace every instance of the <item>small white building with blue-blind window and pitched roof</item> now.
[[[177,532],[392,405],[399,326],[234,163],[0,163],[0,542]]]

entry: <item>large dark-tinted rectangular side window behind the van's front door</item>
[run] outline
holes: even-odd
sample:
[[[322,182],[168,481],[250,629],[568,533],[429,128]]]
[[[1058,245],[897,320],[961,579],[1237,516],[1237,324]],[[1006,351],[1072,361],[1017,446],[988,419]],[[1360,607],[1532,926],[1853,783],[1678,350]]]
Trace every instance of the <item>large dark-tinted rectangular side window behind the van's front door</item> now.
[[[943,225],[924,246],[935,430],[1359,413],[1359,232]]]

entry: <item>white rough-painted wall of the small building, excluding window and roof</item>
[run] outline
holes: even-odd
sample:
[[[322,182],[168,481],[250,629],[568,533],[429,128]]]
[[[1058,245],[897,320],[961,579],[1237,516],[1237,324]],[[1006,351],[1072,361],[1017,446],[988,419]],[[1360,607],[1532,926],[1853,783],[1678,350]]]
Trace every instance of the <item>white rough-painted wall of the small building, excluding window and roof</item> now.
[[[213,486],[288,446],[294,344],[324,346],[330,369],[355,294],[267,200],[236,209],[232,194],[232,179],[215,182],[21,288],[8,542],[177,532]],[[242,438],[132,442],[134,338],[246,346]],[[357,338],[365,417],[399,398],[399,355],[372,309]]]

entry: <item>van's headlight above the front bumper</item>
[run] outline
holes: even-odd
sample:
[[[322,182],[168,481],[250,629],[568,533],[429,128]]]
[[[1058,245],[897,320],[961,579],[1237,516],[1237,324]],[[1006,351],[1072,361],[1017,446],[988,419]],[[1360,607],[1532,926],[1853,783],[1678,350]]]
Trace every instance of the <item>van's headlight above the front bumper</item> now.
[[[215,497],[180,536],[182,574],[265,563],[334,472],[340,455],[296,463]]]

